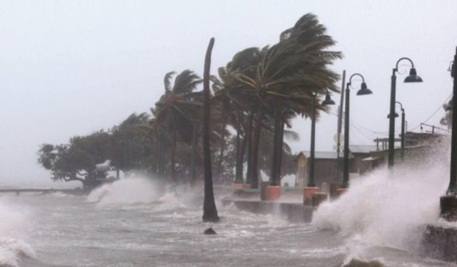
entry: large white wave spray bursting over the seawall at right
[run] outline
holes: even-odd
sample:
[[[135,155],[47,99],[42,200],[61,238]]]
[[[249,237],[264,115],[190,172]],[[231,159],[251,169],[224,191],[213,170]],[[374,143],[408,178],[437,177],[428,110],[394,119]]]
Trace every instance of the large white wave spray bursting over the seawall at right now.
[[[313,226],[348,236],[351,253],[370,245],[415,250],[423,226],[437,221],[448,185],[446,164],[429,163],[396,166],[394,174],[383,168],[351,182],[346,194],[319,206]]]

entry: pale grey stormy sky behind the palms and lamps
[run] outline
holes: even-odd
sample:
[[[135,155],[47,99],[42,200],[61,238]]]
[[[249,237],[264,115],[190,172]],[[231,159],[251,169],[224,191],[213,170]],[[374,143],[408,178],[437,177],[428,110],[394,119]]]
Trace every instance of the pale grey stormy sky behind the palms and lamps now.
[[[344,54],[333,69],[362,73],[373,90],[356,97],[356,81],[351,94],[351,144],[372,145],[388,130],[390,76],[398,58],[413,59],[424,80],[404,84],[405,75],[398,75],[397,100],[410,130],[450,95],[456,11],[453,0],[0,0],[0,184],[48,182],[49,173],[36,164],[41,143],[67,142],[148,111],[163,93],[166,72],[202,73],[209,38],[216,38],[215,73],[243,48],[276,43],[308,12],[338,41],[333,50]],[[442,115],[439,110],[427,122],[438,125]],[[294,121],[301,135],[295,151],[308,149],[309,125]],[[317,150],[332,150],[335,132],[336,117],[322,115]]]

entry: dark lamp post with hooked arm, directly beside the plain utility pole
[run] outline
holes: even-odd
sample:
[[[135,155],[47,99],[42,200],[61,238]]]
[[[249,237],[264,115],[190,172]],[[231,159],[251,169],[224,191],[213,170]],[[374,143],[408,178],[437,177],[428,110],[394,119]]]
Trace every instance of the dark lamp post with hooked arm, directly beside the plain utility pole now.
[[[349,82],[346,83],[346,103],[345,110],[344,110],[344,153],[343,153],[343,182],[341,183],[341,187],[343,189],[348,188],[349,186],[349,85],[351,85],[352,78],[354,76],[359,76],[362,78],[361,88],[358,90],[357,95],[371,95],[370,89],[366,87],[365,79],[359,73],[354,73],[349,78]]]

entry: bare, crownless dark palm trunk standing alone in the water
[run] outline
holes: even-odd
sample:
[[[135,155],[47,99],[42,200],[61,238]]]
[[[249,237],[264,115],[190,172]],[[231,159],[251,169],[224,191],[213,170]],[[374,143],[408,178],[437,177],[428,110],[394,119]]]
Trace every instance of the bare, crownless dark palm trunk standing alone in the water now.
[[[214,201],[213,177],[211,174],[211,151],[209,147],[209,120],[210,120],[210,94],[209,94],[209,69],[211,66],[211,51],[214,46],[214,38],[209,41],[205,56],[205,67],[203,75],[203,97],[204,97],[204,120],[203,120],[203,155],[205,173],[205,197],[203,204],[203,221],[219,221],[216,202]]]

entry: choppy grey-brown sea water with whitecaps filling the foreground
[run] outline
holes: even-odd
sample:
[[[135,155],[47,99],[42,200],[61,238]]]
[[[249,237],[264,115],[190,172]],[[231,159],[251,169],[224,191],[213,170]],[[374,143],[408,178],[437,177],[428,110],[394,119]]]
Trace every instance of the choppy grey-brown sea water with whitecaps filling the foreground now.
[[[361,192],[353,194],[368,194],[363,189],[373,186],[355,185],[353,192]],[[396,222],[398,233],[391,233],[388,223],[376,225],[376,209],[385,212],[382,201],[363,205],[348,194],[324,204],[312,224],[218,203],[221,222],[209,224],[201,222],[199,196],[161,190],[144,179],[106,185],[89,197],[0,196],[0,266],[328,267],[352,258],[383,266],[457,266],[393,242],[392,234],[414,233],[401,222]],[[352,209],[338,211],[341,205]],[[217,235],[203,234],[210,226]]]

